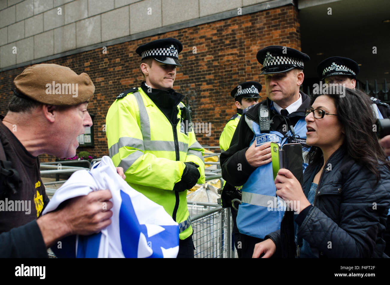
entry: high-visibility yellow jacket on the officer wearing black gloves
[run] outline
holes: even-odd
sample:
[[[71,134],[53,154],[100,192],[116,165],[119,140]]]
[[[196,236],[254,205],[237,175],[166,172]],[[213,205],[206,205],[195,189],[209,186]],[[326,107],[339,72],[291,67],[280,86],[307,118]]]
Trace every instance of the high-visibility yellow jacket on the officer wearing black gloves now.
[[[106,136],[110,157],[115,166],[123,167],[126,181],[152,201],[164,207],[172,218],[183,225],[189,222],[187,191],[172,189],[181,180],[185,164],[199,164],[204,183],[202,146],[195,133],[184,133],[181,110],[177,108],[178,123],[168,120],[158,106],[138,88],[122,93],[111,105],[106,116]],[[185,239],[192,234],[191,226],[180,232]]]

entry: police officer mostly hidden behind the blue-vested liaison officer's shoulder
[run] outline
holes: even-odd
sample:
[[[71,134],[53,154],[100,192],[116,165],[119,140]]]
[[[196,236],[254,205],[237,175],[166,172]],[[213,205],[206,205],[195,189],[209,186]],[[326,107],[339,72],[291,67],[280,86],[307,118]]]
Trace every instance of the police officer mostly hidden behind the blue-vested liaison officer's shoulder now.
[[[255,81],[247,81],[236,86],[231,92],[230,95],[234,98],[234,105],[237,107],[237,113],[234,114],[226,123],[225,128],[223,128],[221,137],[220,137],[220,149],[225,151],[229,148],[230,142],[232,141],[233,134],[238,125],[238,121],[241,118],[241,114],[246,107],[255,105],[259,103],[259,98],[261,91],[261,84]],[[241,187],[239,187],[240,189]],[[223,189],[221,193],[222,206],[230,207],[233,219],[233,235],[234,235],[234,244],[236,246],[237,252],[241,254],[241,251],[238,248],[237,241],[239,236],[239,231],[236,225],[237,210],[232,206],[232,200],[240,199],[241,200],[241,190],[238,190],[237,187],[226,183],[223,184]],[[241,256],[239,256],[241,257]]]

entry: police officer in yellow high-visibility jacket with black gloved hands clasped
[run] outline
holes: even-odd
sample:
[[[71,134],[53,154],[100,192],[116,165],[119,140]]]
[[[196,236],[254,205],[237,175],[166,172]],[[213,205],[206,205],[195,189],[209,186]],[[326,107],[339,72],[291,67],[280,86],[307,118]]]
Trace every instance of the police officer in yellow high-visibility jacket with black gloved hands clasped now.
[[[193,258],[186,195],[205,181],[204,150],[191,128],[190,109],[181,103],[184,96],[172,89],[182,49],[173,38],[137,48],[145,81],[117,97],[106,116],[106,135],[110,157],[123,167],[128,184],[179,223],[177,257]]]

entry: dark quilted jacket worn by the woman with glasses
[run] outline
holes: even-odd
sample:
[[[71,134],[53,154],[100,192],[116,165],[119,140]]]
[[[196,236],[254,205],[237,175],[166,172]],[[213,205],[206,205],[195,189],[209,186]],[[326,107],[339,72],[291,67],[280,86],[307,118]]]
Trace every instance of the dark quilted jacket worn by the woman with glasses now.
[[[302,189],[308,188],[323,161],[311,163],[303,174]],[[331,167],[329,167],[331,166]],[[305,239],[319,257],[386,257],[383,232],[390,205],[390,171],[378,165],[381,178],[356,163],[341,146],[325,164],[314,206],[296,217],[298,242]],[[271,238],[277,245],[275,257],[295,257],[294,212],[286,211],[280,230]]]

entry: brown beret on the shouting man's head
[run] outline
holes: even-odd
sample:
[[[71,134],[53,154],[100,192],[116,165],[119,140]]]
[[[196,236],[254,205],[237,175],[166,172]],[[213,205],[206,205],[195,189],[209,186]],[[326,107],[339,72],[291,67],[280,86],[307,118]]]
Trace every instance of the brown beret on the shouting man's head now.
[[[78,105],[95,92],[95,85],[85,72],[77,75],[69,67],[47,63],[27,67],[15,77],[14,84],[15,95],[50,105]]]

